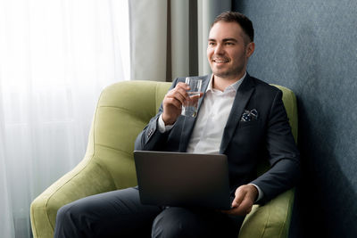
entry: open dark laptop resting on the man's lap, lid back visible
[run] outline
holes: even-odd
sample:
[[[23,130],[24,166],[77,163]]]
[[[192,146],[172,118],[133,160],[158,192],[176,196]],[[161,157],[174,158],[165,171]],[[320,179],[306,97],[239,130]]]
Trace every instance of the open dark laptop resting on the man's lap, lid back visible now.
[[[143,204],[230,209],[225,154],[135,151]]]

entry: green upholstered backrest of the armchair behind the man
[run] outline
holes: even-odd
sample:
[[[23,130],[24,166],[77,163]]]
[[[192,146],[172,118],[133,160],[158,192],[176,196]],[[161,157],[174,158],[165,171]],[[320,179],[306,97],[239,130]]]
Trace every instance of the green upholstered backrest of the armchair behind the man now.
[[[137,184],[133,160],[134,142],[147,122],[157,113],[170,83],[124,81],[108,86],[102,92],[92,124],[87,153],[105,167],[117,189]],[[286,87],[283,101],[297,138],[295,95]],[[265,170],[264,166],[264,170]]]

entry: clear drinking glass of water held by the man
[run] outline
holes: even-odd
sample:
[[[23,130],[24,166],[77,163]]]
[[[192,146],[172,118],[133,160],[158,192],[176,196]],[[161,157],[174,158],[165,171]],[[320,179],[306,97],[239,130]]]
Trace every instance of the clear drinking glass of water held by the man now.
[[[202,79],[187,77],[185,83],[190,87],[190,89],[187,90],[190,99],[182,104],[181,115],[195,117],[197,116],[198,111],[198,100],[200,99],[201,94]]]

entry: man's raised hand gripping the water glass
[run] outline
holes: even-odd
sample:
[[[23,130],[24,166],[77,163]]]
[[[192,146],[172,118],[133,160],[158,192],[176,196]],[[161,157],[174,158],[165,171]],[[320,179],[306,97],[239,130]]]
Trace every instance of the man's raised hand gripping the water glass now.
[[[181,114],[182,104],[189,100],[187,90],[189,90],[189,86],[179,82],[175,88],[171,89],[163,98],[162,120],[165,126],[173,125],[176,119],[178,119]]]

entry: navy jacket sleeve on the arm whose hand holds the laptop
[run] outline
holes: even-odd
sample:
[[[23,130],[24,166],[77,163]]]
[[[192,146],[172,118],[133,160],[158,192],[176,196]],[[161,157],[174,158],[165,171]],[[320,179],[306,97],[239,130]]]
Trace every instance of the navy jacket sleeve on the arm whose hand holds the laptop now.
[[[263,192],[262,201],[258,203],[270,201],[279,193],[292,188],[300,177],[300,154],[288,123],[280,90],[270,109],[265,144],[271,168],[252,182]]]

